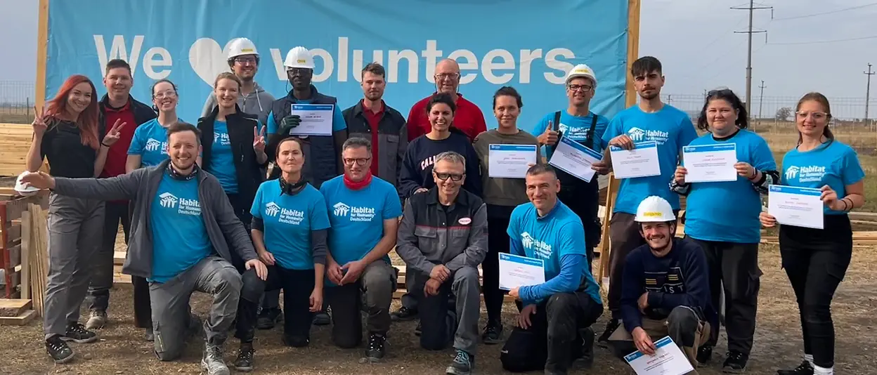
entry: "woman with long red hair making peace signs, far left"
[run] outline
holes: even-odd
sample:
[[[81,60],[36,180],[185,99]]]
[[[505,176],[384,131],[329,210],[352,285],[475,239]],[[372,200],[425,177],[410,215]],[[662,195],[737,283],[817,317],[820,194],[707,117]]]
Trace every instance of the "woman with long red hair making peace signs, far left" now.
[[[107,151],[125,123],[110,131],[98,129],[95,85],[88,77],[71,75],[33,120],[33,140],[26,166],[36,172],[48,159],[50,173],[69,178],[93,178],[103,170]],[[73,359],[65,341],[91,343],[94,332],[79,322],[94,252],[101,246],[103,201],[49,195],[49,272],[43,329],[46,351],[55,363]]]

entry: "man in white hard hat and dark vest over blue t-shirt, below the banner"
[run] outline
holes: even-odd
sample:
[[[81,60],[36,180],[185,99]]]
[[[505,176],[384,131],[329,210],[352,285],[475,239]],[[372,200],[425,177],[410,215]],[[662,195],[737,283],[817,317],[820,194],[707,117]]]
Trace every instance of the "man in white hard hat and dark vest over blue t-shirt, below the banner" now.
[[[341,149],[344,141],[347,140],[347,124],[338,108],[338,99],[334,96],[320,94],[317,92],[317,87],[310,84],[314,74],[314,58],[307,48],[296,46],[289,50],[286,60],[283,60],[283,67],[286,67],[286,75],[289,83],[292,84],[292,90],[289,91],[289,95],[271,103],[271,111],[267,116],[268,145],[265,148],[268,152],[268,160],[275,160],[274,152],[283,138],[298,137],[302,140],[304,155],[302,178],[319,189],[323,182],[344,173]],[[290,132],[302,123],[301,117],[292,114],[293,104],[332,105],[332,135],[291,135]],[[274,168],[269,179],[279,176],[280,168]],[[273,322],[272,316],[275,318],[280,316],[280,308],[278,307],[280,294],[275,293],[265,294],[265,302],[262,307],[263,315],[260,316],[260,321],[265,324],[269,320]],[[270,308],[266,308],[266,306]],[[314,324],[327,325],[329,323],[330,317],[327,309],[324,308],[314,318]],[[271,328],[273,324],[266,326],[257,323],[257,327]]]

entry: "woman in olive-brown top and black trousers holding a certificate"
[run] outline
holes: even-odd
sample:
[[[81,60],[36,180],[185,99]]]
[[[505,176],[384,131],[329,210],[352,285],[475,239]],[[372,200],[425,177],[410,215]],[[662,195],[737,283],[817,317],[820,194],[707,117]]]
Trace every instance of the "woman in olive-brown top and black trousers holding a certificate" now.
[[[499,288],[499,253],[509,253],[509,228],[511,211],[520,204],[528,202],[527,187],[524,184],[526,164],[520,176],[506,178],[503,171],[491,170],[490,158],[503,158],[503,153],[522,155],[538,163],[538,140],[526,131],[517,129],[517,117],[521,114],[524,102],[515,88],[505,86],[494,94],[494,116],[498,123],[496,129],[483,131],[475,137],[474,148],[481,162],[481,187],[484,202],[488,208],[488,255],[481,263],[484,272],[484,306],[488,310],[488,325],[481,335],[484,343],[500,343],[503,335],[503,290]],[[510,145],[505,151],[502,145]],[[532,150],[528,150],[528,149]],[[523,156],[523,155],[522,155]],[[518,158],[515,158],[518,159]],[[494,169],[498,166],[494,161]],[[498,173],[499,172],[499,173]]]

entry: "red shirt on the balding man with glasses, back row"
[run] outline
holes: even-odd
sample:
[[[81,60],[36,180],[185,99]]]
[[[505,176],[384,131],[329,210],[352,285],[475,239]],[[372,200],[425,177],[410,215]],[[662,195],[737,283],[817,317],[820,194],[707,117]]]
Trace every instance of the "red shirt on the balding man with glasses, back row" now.
[[[435,94],[435,93],[433,93]],[[473,141],[481,131],[488,131],[488,125],[484,122],[484,114],[472,102],[467,101],[461,94],[457,94],[457,110],[453,113],[453,127],[460,129]],[[426,96],[420,102],[414,103],[408,113],[408,141],[420,137],[432,130],[430,119],[426,115],[426,104],[432,96]]]

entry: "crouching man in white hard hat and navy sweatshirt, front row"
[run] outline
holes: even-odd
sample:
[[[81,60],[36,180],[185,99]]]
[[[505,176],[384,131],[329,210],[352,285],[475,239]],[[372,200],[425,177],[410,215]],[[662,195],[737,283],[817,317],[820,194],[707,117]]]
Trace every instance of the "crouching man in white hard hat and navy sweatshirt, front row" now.
[[[676,216],[664,198],[645,198],[635,220],[646,244],[624,260],[624,324],[609,342],[619,357],[635,350],[652,355],[654,340],[670,336],[696,367],[697,348],[709,338],[707,322],[715,314],[706,258],[697,244],[675,237]]]

